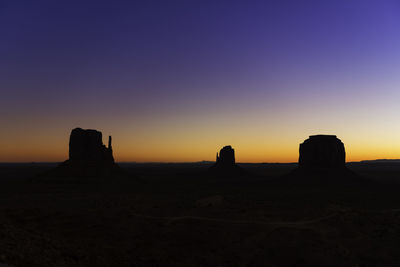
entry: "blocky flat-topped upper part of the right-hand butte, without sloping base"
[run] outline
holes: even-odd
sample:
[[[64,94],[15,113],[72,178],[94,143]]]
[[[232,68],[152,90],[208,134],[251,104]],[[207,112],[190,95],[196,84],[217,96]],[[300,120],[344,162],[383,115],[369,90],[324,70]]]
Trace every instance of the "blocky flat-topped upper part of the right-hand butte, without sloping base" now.
[[[300,168],[345,168],[344,145],[335,135],[312,135],[300,144]]]

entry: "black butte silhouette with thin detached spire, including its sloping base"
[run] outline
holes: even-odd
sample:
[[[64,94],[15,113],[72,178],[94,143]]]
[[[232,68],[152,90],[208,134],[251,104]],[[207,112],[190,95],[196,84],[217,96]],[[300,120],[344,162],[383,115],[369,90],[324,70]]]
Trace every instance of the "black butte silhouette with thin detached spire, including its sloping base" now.
[[[115,162],[112,139],[108,147],[103,144],[102,133],[96,130],[75,128],[69,138],[69,159],[61,163],[48,176],[103,177],[127,176]]]

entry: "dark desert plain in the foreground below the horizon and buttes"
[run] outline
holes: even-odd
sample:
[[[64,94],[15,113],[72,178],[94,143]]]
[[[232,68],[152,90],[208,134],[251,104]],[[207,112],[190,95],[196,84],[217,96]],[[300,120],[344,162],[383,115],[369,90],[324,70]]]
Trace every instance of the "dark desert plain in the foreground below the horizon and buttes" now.
[[[54,166],[0,165],[4,266],[400,266],[397,162],[348,164],[357,178],[243,164],[230,180],[199,163],[42,179]]]

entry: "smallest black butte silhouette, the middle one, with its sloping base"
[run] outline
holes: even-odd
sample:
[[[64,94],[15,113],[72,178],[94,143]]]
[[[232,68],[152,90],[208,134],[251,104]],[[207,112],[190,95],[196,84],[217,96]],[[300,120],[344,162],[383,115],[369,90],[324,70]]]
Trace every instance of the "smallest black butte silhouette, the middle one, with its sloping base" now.
[[[232,146],[224,146],[219,154],[217,152],[216,162],[209,170],[218,175],[238,176],[243,174],[242,168],[235,162],[235,150]]]

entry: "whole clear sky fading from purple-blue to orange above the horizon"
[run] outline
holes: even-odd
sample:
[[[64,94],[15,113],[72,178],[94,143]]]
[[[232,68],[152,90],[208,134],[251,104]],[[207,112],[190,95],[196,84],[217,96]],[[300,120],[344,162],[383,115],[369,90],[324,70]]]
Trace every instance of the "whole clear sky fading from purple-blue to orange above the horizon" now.
[[[0,162],[63,161],[76,127],[117,161],[400,158],[400,2],[0,0]]]

